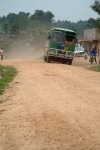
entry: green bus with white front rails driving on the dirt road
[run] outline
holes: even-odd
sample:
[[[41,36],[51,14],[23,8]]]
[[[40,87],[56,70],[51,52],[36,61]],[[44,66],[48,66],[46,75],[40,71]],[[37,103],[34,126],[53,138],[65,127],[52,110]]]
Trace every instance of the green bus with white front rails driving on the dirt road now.
[[[76,31],[65,28],[52,28],[48,32],[44,61],[61,62],[71,65],[74,58],[76,45]]]

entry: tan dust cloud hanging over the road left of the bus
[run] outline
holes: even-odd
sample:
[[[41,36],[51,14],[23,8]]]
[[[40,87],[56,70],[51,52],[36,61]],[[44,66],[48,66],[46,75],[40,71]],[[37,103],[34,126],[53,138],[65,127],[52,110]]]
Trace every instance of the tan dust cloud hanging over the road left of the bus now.
[[[43,59],[44,44],[16,41],[5,51],[7,59]]]

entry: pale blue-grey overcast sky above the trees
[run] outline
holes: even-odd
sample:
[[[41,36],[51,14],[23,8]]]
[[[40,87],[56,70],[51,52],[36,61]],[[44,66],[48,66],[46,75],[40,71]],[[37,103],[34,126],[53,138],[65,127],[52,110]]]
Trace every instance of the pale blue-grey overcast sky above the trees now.
[[[20,11],[34,14],[36,9],[51,11],[55,20],[77,22],[79,20],[96,19],[98,14],[90,5],[94,0],[0,0],[0,16]]]

